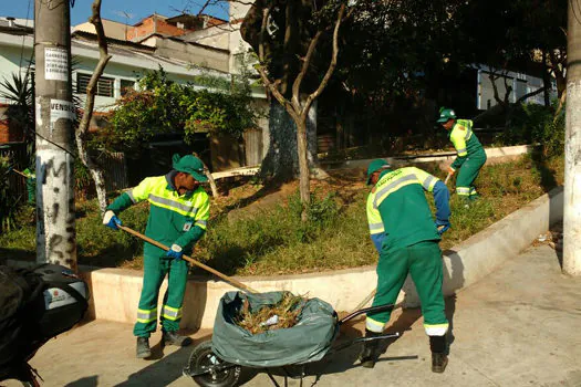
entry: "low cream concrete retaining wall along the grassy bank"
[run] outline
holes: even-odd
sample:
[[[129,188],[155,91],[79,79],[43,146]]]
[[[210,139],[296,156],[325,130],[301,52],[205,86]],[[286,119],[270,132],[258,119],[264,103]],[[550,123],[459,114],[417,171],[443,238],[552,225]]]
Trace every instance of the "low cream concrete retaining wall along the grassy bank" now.
[[[452,295],[479,281],[506,260],[517,255],[549,227],[562,219],[562,188],[553,189],[486,230],[444,253],[444,293]],[[84,272],[90,282],[95,318],[134,323],[142,291],[142,273],[123,269],[97,269]],[[287,290],[309,294],[331,303],[336,311],[351,311],[375,286],[375,266],[271,278],[237,278],[258,291]],[[167,289],[167,281],[160,294]],[[181,326],[211,328],[222,294],[232,286],[211,280],[191,279],[184,300]],[[159,297],[163,299],[163,297]],[[417,304],[411,281],[404,285],[400,301]],[[158,306],[160,310],[160,304]]]

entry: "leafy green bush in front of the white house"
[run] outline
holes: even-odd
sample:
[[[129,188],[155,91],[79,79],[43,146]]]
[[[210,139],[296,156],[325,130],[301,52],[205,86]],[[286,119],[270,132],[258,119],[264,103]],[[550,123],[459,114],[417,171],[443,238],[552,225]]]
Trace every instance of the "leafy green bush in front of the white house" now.
[[[179,84],[163,69],[146,74],[137,91],[117,100],[110,126],[93,140],[93,147],[138,150],[157,135],[175,133],[181,133],[188,144],[196,133],[239,138],[256,126],[250,85],[245,79],[227,83],[205,75],[196,81]],[[214,88],[201,88],[200,82]]]

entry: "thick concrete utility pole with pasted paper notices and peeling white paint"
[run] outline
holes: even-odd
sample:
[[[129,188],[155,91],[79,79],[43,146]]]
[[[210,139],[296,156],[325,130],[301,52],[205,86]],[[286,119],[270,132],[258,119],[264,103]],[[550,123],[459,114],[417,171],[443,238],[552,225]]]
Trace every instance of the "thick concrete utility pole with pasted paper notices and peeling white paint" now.
[[[69,0],[34,1],[37,261],[76,270]]]

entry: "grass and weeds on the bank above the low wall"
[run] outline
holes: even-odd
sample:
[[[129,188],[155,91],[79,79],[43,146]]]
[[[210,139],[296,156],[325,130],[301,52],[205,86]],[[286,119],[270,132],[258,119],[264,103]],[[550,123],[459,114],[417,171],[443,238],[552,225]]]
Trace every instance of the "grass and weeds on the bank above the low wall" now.
[[[435,166],[425,169],[444,175]],[[466,240],[562,181],[562,157],[544,160],[526,156],[485,167],[477,180],[483,196],[479,201],[466,209],[456,195],[452,196],[452,229],[440,247],[445,250]],[[365,216],[369,188],[363,179],[341,176],[313,186],[308,223],[300,221],[298,191],[268,209],[253,211],[251,217],[229,220],[229,210],[261,187],[246,185],[239,188],[243,191],[239,196],[238,188],[232,189],[230,197],[212,202],[208,232],[193,255],[228,275],[305,273],[375,264],[377,253],[369,238]],[[432,202],[430,195],[428,200]],[[143,232],[147,216],[147,203],[141,203],[121,218],[124,224]],[[34,217],[28,210],[21,218],[20,229],[0,236],[0,259],[33,259]],[[81,264],[142,268],[143,242],[103,227],[94,200],[77,205],[76,221]]]

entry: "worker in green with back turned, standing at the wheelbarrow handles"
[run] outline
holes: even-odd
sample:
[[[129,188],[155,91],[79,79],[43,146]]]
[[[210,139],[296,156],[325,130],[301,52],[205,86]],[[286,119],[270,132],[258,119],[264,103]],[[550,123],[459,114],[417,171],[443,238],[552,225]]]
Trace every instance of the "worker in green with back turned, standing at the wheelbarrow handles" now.
[[[438,242],[449,227],[449,191],[428,172],[407,167],[392,169],[382,160],[367,168],[367,221],[371,239],[380,253],[377,290],[373,306],[395,303],[407,274],[414,281],[429,336],[432,370],[443,373],[448,363],[446,332],[448,321],[442,293],[442,251]],[[436,219],[433,219],[424,191],[433,192]],[[365,336],[378,336],[390,321],[391,311],[370,313]],[[365,342],[360,360],[372,368],[378,356],[378,341]]]

